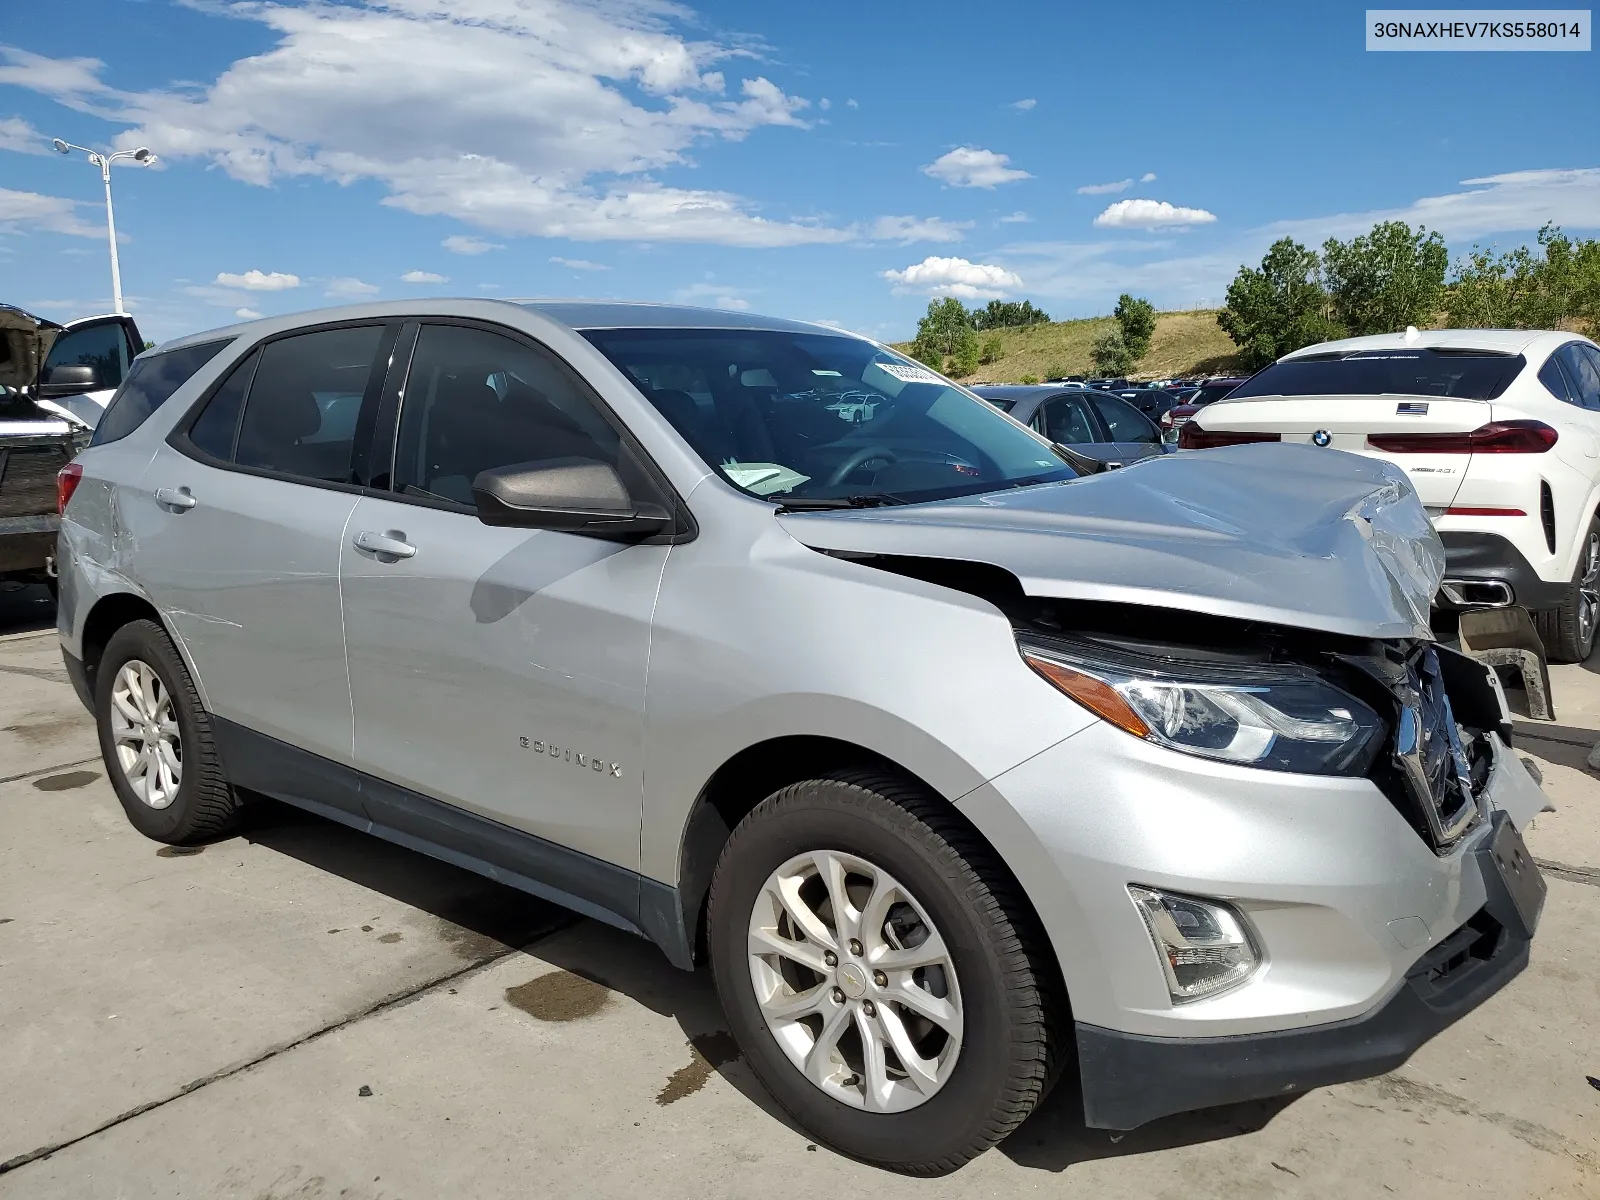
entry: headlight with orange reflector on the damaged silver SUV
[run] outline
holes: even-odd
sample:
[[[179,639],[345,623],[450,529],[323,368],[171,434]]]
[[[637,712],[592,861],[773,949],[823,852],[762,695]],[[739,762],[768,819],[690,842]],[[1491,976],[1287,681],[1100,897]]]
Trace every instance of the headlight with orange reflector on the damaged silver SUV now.
[[[1362,774],[1382,741],[1368,706],[1307,667],[1144,659],[1077,643],[1021,643],[1022,659],[1134,738],[1306,774]]]

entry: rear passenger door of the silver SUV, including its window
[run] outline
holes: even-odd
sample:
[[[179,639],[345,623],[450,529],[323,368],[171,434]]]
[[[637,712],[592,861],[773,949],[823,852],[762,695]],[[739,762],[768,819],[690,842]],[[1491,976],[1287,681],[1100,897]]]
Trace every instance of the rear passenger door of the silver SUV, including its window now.
[[[267,342],[163,443],[126,502],[139,581],[218,717],[350,760],[339,555],[382,325]]]

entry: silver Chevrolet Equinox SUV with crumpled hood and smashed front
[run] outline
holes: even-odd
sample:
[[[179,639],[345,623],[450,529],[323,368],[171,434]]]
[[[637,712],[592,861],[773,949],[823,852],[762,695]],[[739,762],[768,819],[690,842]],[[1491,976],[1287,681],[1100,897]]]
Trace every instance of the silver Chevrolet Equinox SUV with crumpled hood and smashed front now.
[[[1386,464],[1077,478],[877,342],[587,302],[186,338],[101,430],[61,642],[136,829],[274,797],[709,962],[859,1158],[1389,1070],[1526,963],[1542,794]]]

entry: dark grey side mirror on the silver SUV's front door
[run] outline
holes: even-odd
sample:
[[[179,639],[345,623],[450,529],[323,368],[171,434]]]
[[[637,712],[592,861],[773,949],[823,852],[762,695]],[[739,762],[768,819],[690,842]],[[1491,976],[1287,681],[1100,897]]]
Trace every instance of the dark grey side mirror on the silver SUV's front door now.
[[[672,515],[659,504],[638,504],[627,494],[616,467],[584,458],[478,472],[472,499],[485,525],[590,538],[645,538],[672,526]]]

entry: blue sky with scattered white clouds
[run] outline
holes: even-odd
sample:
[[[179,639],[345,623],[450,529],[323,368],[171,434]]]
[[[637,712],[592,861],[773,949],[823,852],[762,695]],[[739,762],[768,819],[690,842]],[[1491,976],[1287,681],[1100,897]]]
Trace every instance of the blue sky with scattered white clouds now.
[[[10,14],[14,18],[18,5]],[[1365,6],[58,0],[0,24],[0,299],[162,339],[347,299],[1219,302],[1283,234],[1600,227],[1594,53],[1366,53]]]

